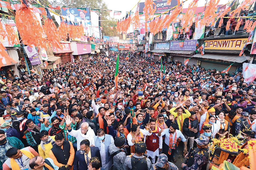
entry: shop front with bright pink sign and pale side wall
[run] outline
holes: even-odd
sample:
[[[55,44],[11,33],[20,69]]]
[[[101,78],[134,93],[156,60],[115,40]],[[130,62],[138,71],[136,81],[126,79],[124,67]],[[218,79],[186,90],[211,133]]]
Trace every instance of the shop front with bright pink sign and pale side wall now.
[[[70,47],[74,59],[88,58],[88,54],[91,54],[91,44],[71,41]]]

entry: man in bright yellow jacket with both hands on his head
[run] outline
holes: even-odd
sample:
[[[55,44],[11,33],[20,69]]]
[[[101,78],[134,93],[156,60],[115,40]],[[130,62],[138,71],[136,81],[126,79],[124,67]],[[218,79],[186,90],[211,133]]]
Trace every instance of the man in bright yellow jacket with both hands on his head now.
[[[177,112],[174,112],[176,109]],[[185,111],[185,113],[183,113],[183,111]],[[187,109],[185,109],[182,104],[171,108],[169,112],[174,116],[174,118],[177,117],[179,130],[182,131],[183,122],[186,118],[188,118],[191,115],[190,112]]]

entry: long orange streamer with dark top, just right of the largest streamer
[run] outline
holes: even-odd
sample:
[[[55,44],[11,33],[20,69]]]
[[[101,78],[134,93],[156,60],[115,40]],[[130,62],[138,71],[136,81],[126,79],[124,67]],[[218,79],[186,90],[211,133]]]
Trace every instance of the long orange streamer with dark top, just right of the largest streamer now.
[[[47,19],[45,20],[45,24],[43,26],[44,31],[46,33],[47,36],[47,42],[48,42],[48,46],[55,47],[57,49],[61,49],[61,44],[60,44],[60,37],[59,37],[59,32],[56,28],[55,23],[52,21],[50,12],[48,8],[46,9],[46,14],[47,14]]]

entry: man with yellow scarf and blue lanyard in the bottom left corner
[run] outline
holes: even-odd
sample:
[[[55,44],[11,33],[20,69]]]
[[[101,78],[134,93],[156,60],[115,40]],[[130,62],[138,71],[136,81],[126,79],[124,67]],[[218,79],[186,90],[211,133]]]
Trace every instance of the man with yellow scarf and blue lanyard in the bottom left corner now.
[[[31,147],[17,149],[15,147],[6,151],[8,159],[3,164],[4,170],[27,170],[29,168],[29,161],[38,153]]]

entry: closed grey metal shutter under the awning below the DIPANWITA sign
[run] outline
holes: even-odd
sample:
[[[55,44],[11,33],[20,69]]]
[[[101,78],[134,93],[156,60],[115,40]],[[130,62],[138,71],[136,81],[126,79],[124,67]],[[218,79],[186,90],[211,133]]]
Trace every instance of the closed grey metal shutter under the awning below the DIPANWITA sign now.
[[[212,63],[212,62],[205,62],[205,61],[201,61],[201,67],[204,67],[205,70],[207,69],[216,69],[218,71],[223,71],[225,70],[229,65],[226,64],[220,64],[220,63]],[[231,68],[229,69],[229,74],[231,74],[232,72],[236,72],[237,66],[232,65]]]

